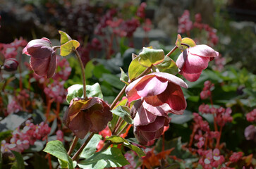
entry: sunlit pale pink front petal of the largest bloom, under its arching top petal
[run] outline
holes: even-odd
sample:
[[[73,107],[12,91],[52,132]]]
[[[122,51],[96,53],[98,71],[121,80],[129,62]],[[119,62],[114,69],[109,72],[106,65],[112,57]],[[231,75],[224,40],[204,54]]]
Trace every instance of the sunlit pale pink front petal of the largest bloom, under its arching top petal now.
[[[163,78],[152,77],[140,82],[135,89],[142,97],[155,96],[164,92],[168,81]]]

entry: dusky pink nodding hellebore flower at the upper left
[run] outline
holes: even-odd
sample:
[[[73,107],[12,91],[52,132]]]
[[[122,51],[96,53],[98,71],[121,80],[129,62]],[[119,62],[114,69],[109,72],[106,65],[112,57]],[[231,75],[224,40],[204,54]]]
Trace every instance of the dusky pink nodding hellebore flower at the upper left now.
[[[28,42],[23,54],[31,56],[30,66],[37,75],[53,77],[56,70],[56,54],[49,39],[35,39]]]

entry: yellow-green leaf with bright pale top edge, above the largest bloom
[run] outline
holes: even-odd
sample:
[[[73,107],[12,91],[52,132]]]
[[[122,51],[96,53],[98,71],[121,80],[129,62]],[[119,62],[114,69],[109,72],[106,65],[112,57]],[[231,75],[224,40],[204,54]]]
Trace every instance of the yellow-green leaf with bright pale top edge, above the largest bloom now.
[[[143,47],[139,54],[139,63],[147,68],[151,65],[158,65],[164,61],[164,51],[162,49],[150,49]]]

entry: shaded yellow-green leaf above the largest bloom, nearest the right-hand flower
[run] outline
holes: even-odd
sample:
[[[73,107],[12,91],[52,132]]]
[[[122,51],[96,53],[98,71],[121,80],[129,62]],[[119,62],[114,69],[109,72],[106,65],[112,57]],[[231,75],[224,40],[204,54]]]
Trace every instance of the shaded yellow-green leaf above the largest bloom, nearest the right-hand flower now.
[[[179,71],[178,66],[175,61],[173,61],[170,57],[164,56],[164,61],[159,65],[156,65],[160,72],[170,73],[176,75]]]

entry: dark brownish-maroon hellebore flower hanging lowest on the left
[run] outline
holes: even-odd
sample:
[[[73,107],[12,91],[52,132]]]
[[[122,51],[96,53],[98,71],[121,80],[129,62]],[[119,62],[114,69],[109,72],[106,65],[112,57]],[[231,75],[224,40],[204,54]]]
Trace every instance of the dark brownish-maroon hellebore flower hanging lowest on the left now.
[[[73,99],[63,117],[63,123],[80,139],[89,131],[104,130],[110,120],[112,113],[109,105],[97,97]]]

